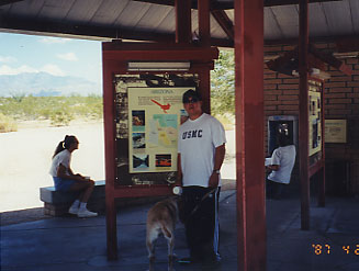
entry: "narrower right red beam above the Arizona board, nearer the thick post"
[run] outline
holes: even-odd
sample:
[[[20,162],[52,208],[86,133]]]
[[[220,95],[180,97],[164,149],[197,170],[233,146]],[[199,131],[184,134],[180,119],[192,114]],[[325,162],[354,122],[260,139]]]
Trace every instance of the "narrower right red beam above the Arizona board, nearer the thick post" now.
[[[203,46],[211,46],[210,0],[198,0],[199,34]]]

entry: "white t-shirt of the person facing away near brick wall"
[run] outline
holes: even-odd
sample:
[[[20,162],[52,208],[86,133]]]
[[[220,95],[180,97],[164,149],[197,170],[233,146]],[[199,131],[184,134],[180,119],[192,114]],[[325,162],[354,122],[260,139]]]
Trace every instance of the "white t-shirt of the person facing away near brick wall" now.
[[[279,170],[272,170],[268,176],[268,180],[280,182],[280,183],[290,183],[291,173],[295,162],[295,146],[289,145],[285,147],[279,147],[274,149],[271,158],[271,165],[279,165]]]

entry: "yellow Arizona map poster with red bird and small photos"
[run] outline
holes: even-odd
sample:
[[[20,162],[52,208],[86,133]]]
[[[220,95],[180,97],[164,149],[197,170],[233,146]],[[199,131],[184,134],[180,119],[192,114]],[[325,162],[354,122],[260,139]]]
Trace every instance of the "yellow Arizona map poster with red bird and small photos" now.
[[[128,88],[130,173],[177,171],[186,88]]]

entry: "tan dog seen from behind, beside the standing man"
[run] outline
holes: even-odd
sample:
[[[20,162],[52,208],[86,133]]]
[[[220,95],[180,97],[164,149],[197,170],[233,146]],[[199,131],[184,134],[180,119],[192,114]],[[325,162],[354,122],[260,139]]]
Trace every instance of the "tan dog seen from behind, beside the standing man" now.
[[[178,205],[175,196],[156,203],[147,213],[146,245],[149,258],[149,271],[154,270],[155,241],[160,234],[168,244],[168,270],[173,271],[175,226]]]

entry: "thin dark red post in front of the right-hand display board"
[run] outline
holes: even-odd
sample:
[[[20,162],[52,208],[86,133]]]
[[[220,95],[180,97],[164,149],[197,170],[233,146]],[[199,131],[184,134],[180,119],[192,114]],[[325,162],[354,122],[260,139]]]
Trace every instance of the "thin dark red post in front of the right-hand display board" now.
[[[301,179],[301,226],[310,229],[310,177],[308,177],[308,0],[300,0],[300,115],[299,115],[299,156]]]

